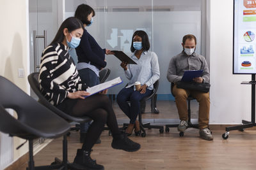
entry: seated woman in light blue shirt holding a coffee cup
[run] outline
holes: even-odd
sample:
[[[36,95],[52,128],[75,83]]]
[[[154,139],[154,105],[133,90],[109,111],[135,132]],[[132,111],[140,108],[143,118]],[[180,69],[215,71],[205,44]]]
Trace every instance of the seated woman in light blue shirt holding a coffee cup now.
[[[127,136],[132,134],[134,128],[135,134],[140,134],[140,123],[136,120],[140,111],[140,100],[152,94],[153,84],[160,77],[157,55],[148,51],[149,48],[150,43],[147,33],[145,31],[134,32],[131,44],[131,52],[133,52],[131,59],[137,64],[122,62],[120,65],[124,68],[129,83],[118,93],[116,101],[125,115],[130,118],[130,124],[125,130]],[[136,81],[141,84],[138,90],[134,86]],[[131,104],[129,105],[127,101],[131,101]]]

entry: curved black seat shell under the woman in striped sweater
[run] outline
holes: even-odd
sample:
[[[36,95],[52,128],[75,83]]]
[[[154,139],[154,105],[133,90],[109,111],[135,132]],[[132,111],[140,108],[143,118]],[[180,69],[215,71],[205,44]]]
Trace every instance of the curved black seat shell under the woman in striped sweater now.
[[[39,98],[39,102],[42,103],[45,107],[49,108],[49,110],[53,111],[57,115],[59,115],[62,118],[65,118],[65,120],[68,120],[69,122],[89,122],[91,119],[88,117],[72,117],[68,115],[67,113],[64,113],[63,111],[59,110],[55,106],[53,106],[40,92],[39,82],[38,82],[38,75],[39,73],[31,73],[28,76],[28,81],[30,84],[31,89],[35,92],[36,96]]]

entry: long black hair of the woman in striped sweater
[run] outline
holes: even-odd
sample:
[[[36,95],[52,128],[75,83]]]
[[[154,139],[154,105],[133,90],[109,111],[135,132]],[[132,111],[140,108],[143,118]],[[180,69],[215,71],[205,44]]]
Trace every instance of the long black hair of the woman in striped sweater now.
[[[65,38],[65,35],[63,34],[63,30],[65,28],[68,29],[68,32],[72,32],[76,29],[83,28],[83,24],[79,19],[77,19],[75,17],[67,18],[60,25],[60,28],[59,28],[56,36],[54,37],[54,39],[52,40],[50,45],[52,45],[54,43],[61,43],[63,41],[63,39]]]

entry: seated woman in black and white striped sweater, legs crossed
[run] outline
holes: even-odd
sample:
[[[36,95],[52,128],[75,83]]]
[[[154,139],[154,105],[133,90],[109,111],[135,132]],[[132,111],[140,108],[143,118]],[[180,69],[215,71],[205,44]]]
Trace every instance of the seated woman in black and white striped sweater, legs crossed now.
[[[107,124],[113,134],[112,148],[134,152],[140,144],[134,143],[118,129],[111,101],[104,94],[90,96],[82,83],[68,48],[76,48],[83,35],[83,24],[75,17],[67,18],[60,26],[51,45],[42,53],[39,82],[42,94],[61,111],[74,117],[90,117],[93,120],[87,138],[74,159],[76,169],[104,169],[92,160],[90,153]],[[88,96],[85,98],[85,96]]]

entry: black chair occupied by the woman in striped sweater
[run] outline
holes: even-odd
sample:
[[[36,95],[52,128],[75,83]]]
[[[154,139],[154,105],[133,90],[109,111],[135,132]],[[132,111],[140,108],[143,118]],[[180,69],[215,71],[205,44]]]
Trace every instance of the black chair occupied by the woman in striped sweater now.
[[[49,108],[52,112],[56,113],[61,118],[64,118],[68,122],[78,122],[78,123],[84,123],[84,122],[90,122],[91,119],[89,117],[72,117],[68,115],[67,113],[64,113],[63,111],[59,110],[55,106],[53,106],[40,92],[39,88],[39,82],[38,82],[38,74],[39,73],[31,73],[28,76],[28,81],[30,84],[31,89],[35,92],[36,96],[38,96],[39,100],[38,102],[43,104],[45,107]],[[72,128],[70,129],[72,130]],[[62,162],[68,162],[67,160],[67,134],[63,136],[63,160]],[[60,159],[55,159],[55,163],[61,163]],[[67,163],[67,167],[72,167],[72,164]]]

